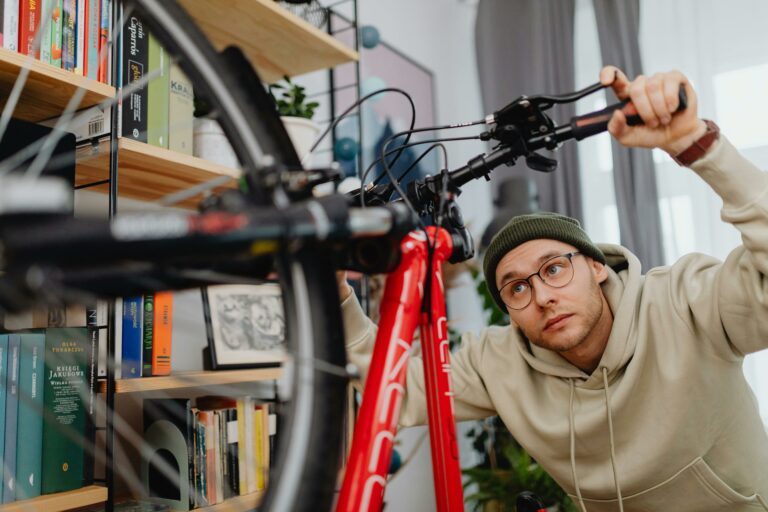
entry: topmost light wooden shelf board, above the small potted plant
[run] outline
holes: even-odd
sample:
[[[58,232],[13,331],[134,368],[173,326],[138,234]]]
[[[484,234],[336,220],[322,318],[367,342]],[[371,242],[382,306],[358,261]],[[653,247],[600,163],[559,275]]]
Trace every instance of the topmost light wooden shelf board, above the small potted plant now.
[[[355,61],[358,54],[274,0],[180,0],[213,45],[245,52],[265,82]]]

